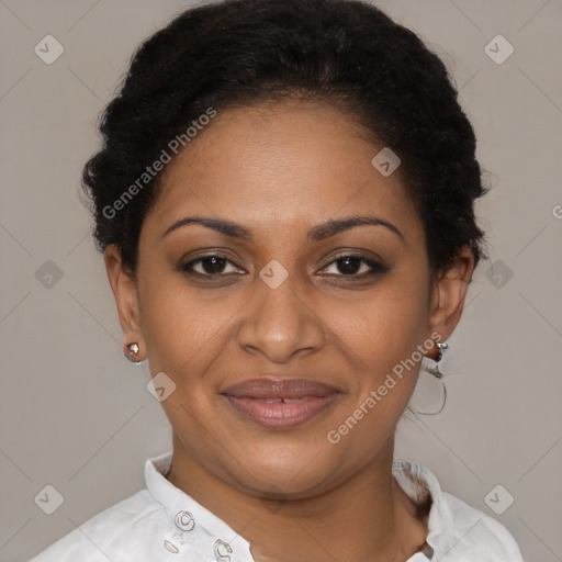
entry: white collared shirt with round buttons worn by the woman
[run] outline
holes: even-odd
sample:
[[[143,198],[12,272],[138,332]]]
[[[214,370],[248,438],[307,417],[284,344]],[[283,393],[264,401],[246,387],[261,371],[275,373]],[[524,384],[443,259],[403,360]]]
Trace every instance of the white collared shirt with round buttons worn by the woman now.
[[[30,562],[255,562],[249,542],[166,480],[172,453],[145,464],[146,487],[70,531]],[[392,473],[415,502],[432,498],[425,552],[405,562],[522,562],[498,521],[442,492],[423,464],[394,459]]]

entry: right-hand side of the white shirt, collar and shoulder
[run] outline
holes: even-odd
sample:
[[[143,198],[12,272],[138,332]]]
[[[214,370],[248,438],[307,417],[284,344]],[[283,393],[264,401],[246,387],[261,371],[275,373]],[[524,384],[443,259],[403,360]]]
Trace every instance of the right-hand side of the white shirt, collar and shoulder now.
[[[443,492],[425,465],[394,459],[393,475],[417,504],[430,501],[427,543],[441,562],[522,562],[510,532],[496,519]]]

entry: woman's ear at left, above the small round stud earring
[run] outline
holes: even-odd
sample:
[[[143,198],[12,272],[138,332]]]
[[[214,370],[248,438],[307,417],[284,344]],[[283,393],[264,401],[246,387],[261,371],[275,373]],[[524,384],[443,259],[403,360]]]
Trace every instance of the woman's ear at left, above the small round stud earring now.
[[[145,353],[143,333],[140,330],[140,313],[136,279],[134,274],[123,266],[121,251],[110,244],[103,254],[108,279],[117,305],[119,321],[124,334],[123,345],[137,342],[139,350],[136,360],[140,361]]]

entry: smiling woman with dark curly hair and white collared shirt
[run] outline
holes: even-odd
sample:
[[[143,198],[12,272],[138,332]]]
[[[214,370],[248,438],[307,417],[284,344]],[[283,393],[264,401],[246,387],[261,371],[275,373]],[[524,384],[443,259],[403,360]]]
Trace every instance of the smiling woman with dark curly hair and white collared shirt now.
[[[173,451],[34,562],[521,561],[393,456],[482,256],[438,57],[369,3],[203,5],[136,53],[101,131],[95,240]]]

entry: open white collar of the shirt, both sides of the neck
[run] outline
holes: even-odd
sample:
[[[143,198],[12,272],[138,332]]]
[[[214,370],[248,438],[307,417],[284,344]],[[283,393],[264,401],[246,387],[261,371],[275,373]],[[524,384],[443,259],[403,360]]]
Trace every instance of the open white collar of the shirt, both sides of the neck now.
[[[195,502],[182,490],[166,480],[171,468],[172,452],[148,459],[145,481],[149,494],[164,508],[168,531],[162,537],[162,548],[181,553],[188,548],[207,558],[205,562],[254,562],[250,543],[216,515]],[[392,474],[401,488],[416,504],[430,501],[427,520],[428,535],[423,550],[411,560],[439,560],[452,544],[452,514],[443,501],[435,474],[425,465],[394,458]]]

